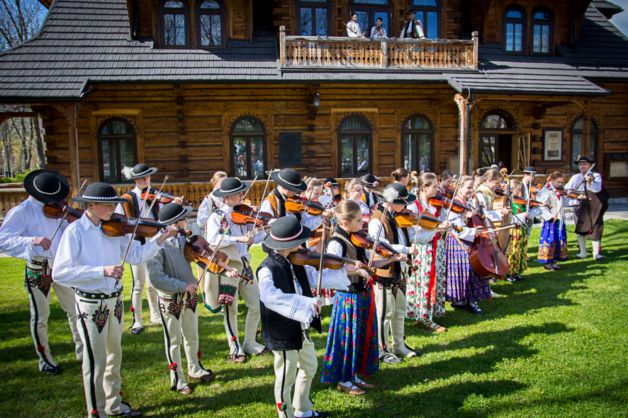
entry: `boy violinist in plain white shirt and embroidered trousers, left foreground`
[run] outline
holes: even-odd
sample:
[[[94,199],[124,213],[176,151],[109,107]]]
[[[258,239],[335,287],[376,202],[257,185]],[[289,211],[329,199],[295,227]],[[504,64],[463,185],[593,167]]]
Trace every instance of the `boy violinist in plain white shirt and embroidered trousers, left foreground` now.
[[[177,229],[167,226],[155,239],[140,245],[133,236],[106,236],[99,227],[111,219],[116,204],[126,202],[111,185],[96,182],[87,186],[82,218],[71,223],[55,255],[52,278],[61,286],[75,289],[79,335],[83,342],[83,385],[89,417],[124,415],[140,417],[123,402],[120,392],[120,363],[123,328],[122,276],[120,261],[139,265],[155,255]],[[129,247],[130,245],[130,247]]]

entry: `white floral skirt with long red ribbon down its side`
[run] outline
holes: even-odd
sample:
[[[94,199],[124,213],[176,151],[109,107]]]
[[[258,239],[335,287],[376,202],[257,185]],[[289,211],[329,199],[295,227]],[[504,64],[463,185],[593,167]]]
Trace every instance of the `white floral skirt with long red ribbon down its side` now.
[[[430,275],[432,274],[432,260],[435,268],[435,297],[430,292]],[[436,252],[432,242],[417,245],[417,254],[413,265],[416,270],[408,276],[405,297],[408,304],[405,309],[405,318],[431,322],[432,318],[439,318],[445,314],[445,292],[447,290],[447,272],[445,265],[445,242],[442,239],[436,242]],[[432,303],[434,301],[434,303]]]

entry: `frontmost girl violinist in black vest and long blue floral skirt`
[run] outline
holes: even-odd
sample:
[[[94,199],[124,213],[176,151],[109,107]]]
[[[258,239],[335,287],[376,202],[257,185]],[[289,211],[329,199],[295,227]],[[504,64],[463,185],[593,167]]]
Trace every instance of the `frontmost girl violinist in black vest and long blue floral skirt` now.
[[[359,231],[362,225],[359,205],[344,200],[338,204],[334,217],[336,227],[326,252],[368,264],[364,248],[356,247],[351,240],[351,233]],[[373,267],[405,260],[405,255],[398,254],[375,260]],[[375,304],[369,274],[363,269],[347,274],[352,286],[348,291],[336,291],[320,381],[337,383],[337,389],[349,395],[364,395],[364,389],[374,385],[357,375],[372,376],[379,370]]]

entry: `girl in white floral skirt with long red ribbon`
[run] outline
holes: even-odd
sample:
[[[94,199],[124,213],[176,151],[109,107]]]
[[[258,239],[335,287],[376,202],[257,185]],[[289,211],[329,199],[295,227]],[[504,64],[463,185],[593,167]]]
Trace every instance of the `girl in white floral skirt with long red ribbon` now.
[[[436,175],[423,173],[417,178],[418,214],[427,214],[444,219],[446,210],[432,207],[430,197],[436,196],[438,181]],[[446,329],[434,323],[432,319],[445,314],[445,292],[447,277],[445,275],[445,243],[442,239],[449,222],[439,223],[433,238],[425,243],[417,243],[417,252],[413,258],[415,270],[408,276],[408,306],[405,318],[417,321],[428,330],[444,332]]]

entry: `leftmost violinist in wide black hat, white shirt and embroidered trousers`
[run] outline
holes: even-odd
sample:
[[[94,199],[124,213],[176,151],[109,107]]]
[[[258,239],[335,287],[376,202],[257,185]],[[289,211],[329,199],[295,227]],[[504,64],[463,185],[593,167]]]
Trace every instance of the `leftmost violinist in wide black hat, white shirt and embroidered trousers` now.
[[[60,368],[52,359],[48,346],[51,288],[55,289],[59,303],[67,313],[77,359],[82,359],[83,355],[83,344],[77,332],[74,292],[54,283],[50,276],[62,233],[69,223],[47,218],[43,212],[45,204],[55,204],[67,197],[69,185],[65,177],[52,170],[31,171],[23,184],[30,197],[4,217],[0,227],[0,250],[26,260],[24,286],[30,302],[30,334],[39,356],[39,369],[47,374],[57,374]]]

